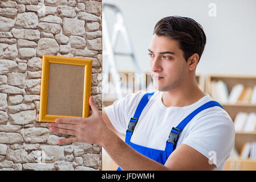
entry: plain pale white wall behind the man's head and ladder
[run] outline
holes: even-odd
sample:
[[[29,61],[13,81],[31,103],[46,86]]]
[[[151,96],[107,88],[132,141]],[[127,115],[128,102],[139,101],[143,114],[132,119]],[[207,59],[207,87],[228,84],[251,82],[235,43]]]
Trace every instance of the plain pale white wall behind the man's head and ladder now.
[[[148,47],[155,24],[171,15],[188,16],[204,27],[205,51],[197,73],[256,75],[255,0],[103,0],[123,11],[135,55],[143,72],[149,72]],[[216,4],[216,16],[209,16],[209,4]],[[112,14],[107,20],[111,26]],[[104,36],[104,35],[103,35]],[[120,39],[119,48],[125,48]],[[104,57],[105,58],[105,57]],[[130,59],[117,56],[121,71],[133,71]],[[107,63],[103,59],[103,63]]]

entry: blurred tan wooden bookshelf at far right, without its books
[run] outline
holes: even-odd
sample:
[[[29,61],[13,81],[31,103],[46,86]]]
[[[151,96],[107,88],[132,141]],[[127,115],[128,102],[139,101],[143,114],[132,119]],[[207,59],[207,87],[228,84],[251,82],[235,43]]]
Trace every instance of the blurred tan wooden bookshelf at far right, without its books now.
[[[245,87],[253,87],[256,85],[256,76],[238,76],[238,75],[208,75],[206,77],[205,92],[211,94],[211,83],[212,81],[224,81],[227,86],[227,91],[230,94],[231,89],[236,84],[243,84]],[[250,102],[237,102],[235,104],[220,104],[229,113],[231,119],[234,121],[238,112],[244,113],[256,113],[256,105],[250,104]],[[234,147],[238,154],[241,154],[242,146],[246,142],[256,141],[256,131],[254,132],[236,132],[235,133],[235,144]],[[227,160],[224,170],[256,170],[256,160],[251,159],[240,159],[230,158]]]

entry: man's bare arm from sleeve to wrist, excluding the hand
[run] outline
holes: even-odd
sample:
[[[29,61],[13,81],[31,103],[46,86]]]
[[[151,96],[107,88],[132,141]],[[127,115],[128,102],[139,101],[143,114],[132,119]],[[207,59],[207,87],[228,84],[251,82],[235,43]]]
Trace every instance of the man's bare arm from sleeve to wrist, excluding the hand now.
[[[214,164],[209,164],[208,158],[186,144],[181,144],[172,152],[165,165],[149,159],[133,150],[113,132],[106,135],[101,144],[113,161],[123,170],[213,170]]]

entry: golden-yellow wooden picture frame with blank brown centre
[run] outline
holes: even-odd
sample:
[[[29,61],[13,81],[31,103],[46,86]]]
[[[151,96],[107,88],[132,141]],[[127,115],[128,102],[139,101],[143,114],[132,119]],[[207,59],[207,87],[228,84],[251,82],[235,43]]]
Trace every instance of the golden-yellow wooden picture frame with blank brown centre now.
[[[90,114],[92,60],[43,55],[39,121]]]

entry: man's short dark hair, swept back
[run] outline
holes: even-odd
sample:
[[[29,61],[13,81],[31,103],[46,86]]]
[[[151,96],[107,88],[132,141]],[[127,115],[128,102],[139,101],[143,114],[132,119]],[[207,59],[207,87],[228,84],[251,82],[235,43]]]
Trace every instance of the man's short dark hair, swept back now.
[[[205,32],[202,30],[202,26],[191,18],[181,16],[162,18],[157,22],[153,34],[178,40],[186,61],[194,53],[198,53],[199,61],[202,52],[204,52],[206,44]]]

